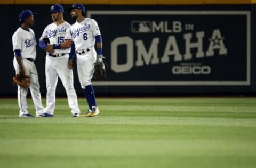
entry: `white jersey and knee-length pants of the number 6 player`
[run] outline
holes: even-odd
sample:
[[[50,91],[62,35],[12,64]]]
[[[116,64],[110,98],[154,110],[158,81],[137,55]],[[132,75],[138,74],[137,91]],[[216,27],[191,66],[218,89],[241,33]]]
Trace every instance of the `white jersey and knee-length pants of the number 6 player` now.
[[[78,78],[84,89],[91,85],[97,56],[94,48],[95,36],[100,35],[100,29],[94,19],[85,18],[71,26],[71,35],[76,48]]]

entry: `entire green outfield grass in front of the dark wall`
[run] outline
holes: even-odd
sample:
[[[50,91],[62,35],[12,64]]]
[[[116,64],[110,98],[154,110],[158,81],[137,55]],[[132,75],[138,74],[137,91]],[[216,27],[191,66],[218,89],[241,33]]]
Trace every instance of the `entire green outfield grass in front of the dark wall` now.
[[[67,99],[57,99],[54,118],[19,119],[17,100],[0,99],[0,167],[256,167],[256,98],[98,104],[94,118],[71,117]]]

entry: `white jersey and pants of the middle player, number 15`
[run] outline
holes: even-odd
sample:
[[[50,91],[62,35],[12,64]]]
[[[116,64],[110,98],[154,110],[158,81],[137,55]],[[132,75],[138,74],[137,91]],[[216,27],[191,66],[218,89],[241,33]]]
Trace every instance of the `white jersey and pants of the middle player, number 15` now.
[[[71,39],[70,24],[63,22],[59,26],[55,22],[46,26],[39,40],[49,38],[50,44],[63,43],[66,39]],[[55,108],[55,90],[58,82],[58,77],[62,81],[68,96],[68,105],[71,108],[71,113],[80,113],[76,91],[73,83],[73,70],[68,68],[68,58],[70,48],[55,49],[53,54],[46,53],[45,76],[47,87],[47,101],[45,112],[53,114]]]

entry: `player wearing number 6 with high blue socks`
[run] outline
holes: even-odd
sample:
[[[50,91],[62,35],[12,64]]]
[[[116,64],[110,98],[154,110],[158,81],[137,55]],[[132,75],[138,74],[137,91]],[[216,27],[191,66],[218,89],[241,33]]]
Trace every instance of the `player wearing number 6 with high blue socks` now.
[[[85,7],[82,4],[74,4],[69,10],[71,16],[76,19],[76,22],[71,26],[71,35],[76,48],[78,78],[89,106],[89,111],[81,117],[97,116],[100,111],[91,79],[94,63],[96,61],[102,62],[103,57],[100,29],[95,20],[85,17]],[[97,52],[94,48],[95,43]]]

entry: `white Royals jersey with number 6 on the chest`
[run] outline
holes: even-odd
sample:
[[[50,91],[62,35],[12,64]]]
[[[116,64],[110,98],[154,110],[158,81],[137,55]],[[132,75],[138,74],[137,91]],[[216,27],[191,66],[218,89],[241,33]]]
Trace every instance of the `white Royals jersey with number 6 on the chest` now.
[[[100,35],[98,23],[94,19],[85,18],[71,26],[71,35],[76,51],[95,46],[95,36]]]

